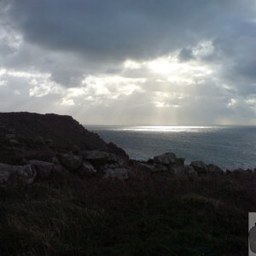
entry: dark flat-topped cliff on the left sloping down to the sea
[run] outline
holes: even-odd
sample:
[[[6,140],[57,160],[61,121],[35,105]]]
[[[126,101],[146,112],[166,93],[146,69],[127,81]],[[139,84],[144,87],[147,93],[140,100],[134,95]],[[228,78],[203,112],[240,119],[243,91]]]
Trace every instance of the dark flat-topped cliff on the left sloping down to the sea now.
[[[54,113],[0,113],[0,140],[0,162],[9,162],[15,150],[26,154],[30,149],[38,154],[54,149],[98,149],[128,158],[123,149],[105,143],[71,116]]]

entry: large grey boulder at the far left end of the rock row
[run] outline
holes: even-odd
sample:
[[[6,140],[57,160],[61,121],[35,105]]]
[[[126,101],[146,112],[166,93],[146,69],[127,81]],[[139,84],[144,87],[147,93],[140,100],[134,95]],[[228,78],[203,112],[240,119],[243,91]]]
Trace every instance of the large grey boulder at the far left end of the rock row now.
[[[0,164],[0,186],[19,187],[30,184],[35,180],[37,172],[32,170],[32,166],[10,166]]]

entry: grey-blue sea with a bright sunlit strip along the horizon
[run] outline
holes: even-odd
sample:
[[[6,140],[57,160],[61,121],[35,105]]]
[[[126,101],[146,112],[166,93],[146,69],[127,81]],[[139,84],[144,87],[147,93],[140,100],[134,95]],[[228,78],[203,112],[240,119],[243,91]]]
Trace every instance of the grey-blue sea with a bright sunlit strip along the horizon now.
[[[148,160],[173,152],[224,169],[256,167],[256,126],[84,125],[131,159]]]

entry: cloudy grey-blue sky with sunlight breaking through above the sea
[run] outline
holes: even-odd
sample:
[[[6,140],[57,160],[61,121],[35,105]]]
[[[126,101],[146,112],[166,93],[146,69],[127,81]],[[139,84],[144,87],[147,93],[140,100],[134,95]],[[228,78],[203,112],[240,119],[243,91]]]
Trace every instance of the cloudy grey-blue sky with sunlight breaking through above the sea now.
[[[256,125],[256,1],[0,0],[0,111]]]

